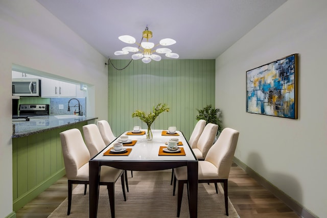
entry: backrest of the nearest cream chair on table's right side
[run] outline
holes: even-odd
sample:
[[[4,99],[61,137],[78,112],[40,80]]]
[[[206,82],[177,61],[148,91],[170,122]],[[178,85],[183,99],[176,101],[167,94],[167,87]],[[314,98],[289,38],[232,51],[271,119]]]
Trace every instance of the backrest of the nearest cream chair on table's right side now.
[[[223,129],[205,158],[205,161],[213,163],[218,168],[218,175],[221,179],[228,179],[239,134],[231,128]]]

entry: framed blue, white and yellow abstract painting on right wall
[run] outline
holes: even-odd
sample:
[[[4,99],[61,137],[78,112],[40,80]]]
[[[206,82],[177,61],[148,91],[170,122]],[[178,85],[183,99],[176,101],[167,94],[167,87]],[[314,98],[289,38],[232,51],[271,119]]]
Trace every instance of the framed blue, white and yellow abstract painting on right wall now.
[[[246,112],[297,119],[297,62],[293,54],[246,71]]]

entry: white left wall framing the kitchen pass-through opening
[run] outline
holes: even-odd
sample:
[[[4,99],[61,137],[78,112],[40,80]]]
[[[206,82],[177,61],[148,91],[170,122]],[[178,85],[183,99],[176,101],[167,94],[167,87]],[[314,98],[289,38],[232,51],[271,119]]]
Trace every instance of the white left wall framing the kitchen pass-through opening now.
[[[90,86],[87,114],[107,119],[106,58],[34,0],[0,2],[0,217],[12,212],[12,64]]]

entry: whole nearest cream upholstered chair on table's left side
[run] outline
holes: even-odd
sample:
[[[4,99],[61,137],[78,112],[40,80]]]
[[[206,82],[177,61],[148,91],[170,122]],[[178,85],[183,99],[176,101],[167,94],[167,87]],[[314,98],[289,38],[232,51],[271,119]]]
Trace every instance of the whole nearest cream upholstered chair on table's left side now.
[[[73,184],[89,184],[88,161],[90,153],[86,148],[81,132],[78,129],[69,129],[60,134],[62,154],[68,179],[68,209],[71,213]],[[111,217],[114,217],[114,184],[121,177],[124,200],[126,201],[124,173],[122,169],[113,167],[101,167],[100,185],[106,185],[111,209]],[[110,198],[111,196],[111,198]]]

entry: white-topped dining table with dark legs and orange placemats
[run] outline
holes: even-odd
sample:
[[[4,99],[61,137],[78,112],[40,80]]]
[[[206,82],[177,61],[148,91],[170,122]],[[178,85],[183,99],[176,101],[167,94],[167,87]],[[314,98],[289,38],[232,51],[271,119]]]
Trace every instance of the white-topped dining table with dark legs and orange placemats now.
[[[121,142],[120,136],[105,149],[89,160],[89,217],[97,217],[99,200],[99,181],[101,166],[111,166],[129,171],[159,171],[186,166],[188,172],[189,212],[190,217],[198,213],[198,160],[181,131],[170,134],[167,130],[152,130],[153,139],[146,139],[146,130],[136,133],[126,131],[128,141],[123,143],[124,152],[114,152],[113,144]],[[178,138],[179,152],[167,151],[167,142]],[[127,143],[128,142],[128,143]],[[153,199],[155,201],[155,199]],[[114,203],[114,195],[109,196]],[[177,201],[176,201],[177,204]],[[113,211],[112,211],[113,210]],[[172,211],[174,213],[176,211]],[[132,213],[132,211],[131,211]],[[114,217],[114,206],[111,216]],[[159,214],[156,214],[159,216]]]

